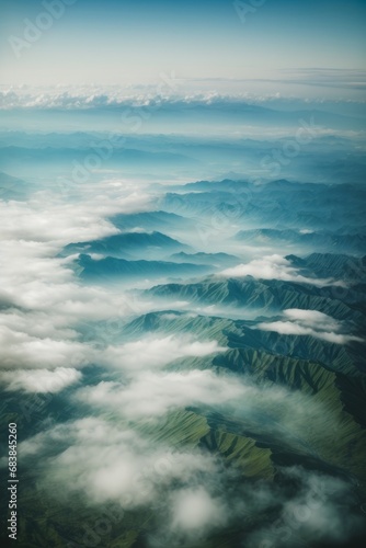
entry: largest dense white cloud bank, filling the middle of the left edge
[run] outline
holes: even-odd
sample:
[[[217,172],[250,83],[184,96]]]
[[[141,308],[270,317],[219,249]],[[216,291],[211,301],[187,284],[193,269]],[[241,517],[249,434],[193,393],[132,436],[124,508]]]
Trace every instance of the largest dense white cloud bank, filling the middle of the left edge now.
[[[134,296],[82,286],[69,259],[58,256],[70,240],[116,232],[105,216],[146,207],[146,195],[136,189],[108,187],[106,183],[99,196],[92,185],[85,186],[80,203],[47,193],[36,193],[27,203],[0,201],[0,368],[14,372],[13,383],[7,372],[2,376],[11,390],[44,391],[49,386],[46,391],[57,391],[73,384],[80,377],[73,369],[98,357],[93,344],[83,342],[83,333],[91,334],[85,326],[103,321],[99,336],[105,344],[115,334],[111,322],[116,320],[121,329],[122,318],[141,311]]]

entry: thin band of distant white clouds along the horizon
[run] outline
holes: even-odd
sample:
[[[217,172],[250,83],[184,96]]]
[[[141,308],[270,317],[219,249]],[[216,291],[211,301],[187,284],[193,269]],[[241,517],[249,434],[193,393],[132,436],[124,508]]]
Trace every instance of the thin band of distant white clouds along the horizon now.
[[[296,77],[294,79],[294,76]],[[272,83],[272,89],[263,90],[263,82]],[[294,100],[293,94],[281,94],[273,91],[278,84],[298,84],[318,88],[335,88],[362,90],[366,85],[366,76],[363,70],[342,69],[294,69],[281,70],[273,78],[267,79],[225,79],[225,78],[173,78],[172,83],[176,90],[170,89],[167,82],[163,92],[157,93],[156,84],[140,85],[33,85],[16,87],[1,85],[0,109],[107,109],[119,107],[148,107],[167,106],[174,104],[232,104],[239,106],[244,102],[266,103],[273,100]],[[243,84],[245,91],[243,92]],[[260,85],[259,85],[260,84]],[[213,87],[215,91],[213,91]],[[312,102],[324,102],[324,96],[312,96]],[[298,101],[304,101],[298,98]],[[347,100],[350,101],[350,100]]]

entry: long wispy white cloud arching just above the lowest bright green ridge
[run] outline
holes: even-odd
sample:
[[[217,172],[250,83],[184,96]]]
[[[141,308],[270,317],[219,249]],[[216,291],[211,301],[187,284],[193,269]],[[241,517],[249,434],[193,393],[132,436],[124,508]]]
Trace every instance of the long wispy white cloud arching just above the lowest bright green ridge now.
[[[275,432],[290,446],[301,438],[321,445],[324,421],[328,433],[343,426],[340,416],[321,401],[299,391],[273,386],[258,386],[250,378],[211,369],[124,372],[118,380],[102,380],[77,388],[72,400],[93,413],[107,413],[115,420],[162,423],[169,412],[187,407],[226,413],[235,421],[250,421],[261,432]],[[284,404],[286,402],[286,404]],[[266,418],[266,419],[264,419]],[[321,419],[320,419],[321,418]]]

